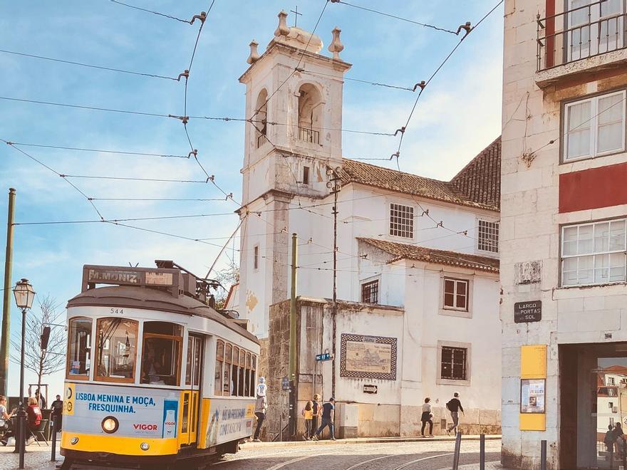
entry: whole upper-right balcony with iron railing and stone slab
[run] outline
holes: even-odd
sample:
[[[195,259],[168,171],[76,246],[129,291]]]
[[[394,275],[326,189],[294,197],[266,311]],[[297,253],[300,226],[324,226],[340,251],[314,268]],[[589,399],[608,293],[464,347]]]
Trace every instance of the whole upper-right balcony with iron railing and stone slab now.
[[[601,0],[538,15],[536,83],[548,85],[565,75],[627,61],[626,1]]]

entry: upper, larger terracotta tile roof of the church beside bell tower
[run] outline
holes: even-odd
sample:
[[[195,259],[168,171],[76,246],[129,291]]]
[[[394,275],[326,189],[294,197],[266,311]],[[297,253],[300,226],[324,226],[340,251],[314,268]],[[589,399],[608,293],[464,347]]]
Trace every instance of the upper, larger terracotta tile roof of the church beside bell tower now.
[[[499,211],[501,137],[494,140],[450,182],[345,158],[342,184],[351,182],[462,206]]]

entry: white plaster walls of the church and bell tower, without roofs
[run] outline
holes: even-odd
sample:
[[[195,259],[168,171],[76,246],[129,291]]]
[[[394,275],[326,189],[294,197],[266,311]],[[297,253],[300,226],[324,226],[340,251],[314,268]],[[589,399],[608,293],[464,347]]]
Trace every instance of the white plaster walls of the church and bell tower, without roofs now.
[[[346,168],[339,129],[343,73],[350,64],[341,59],[326,58],[309,49],[304,51],[306,38],[309,38],[307,34],[301,30],[289,33],[288,37],[300,35],[305,38],[305,42],[294,39],[289,44],[284,43],[280,35],[275,36],[266,52],[253,61],[240,78],[247,85],[247,116],[255,114],[259,105],[264,103],[258,97],[267,93],[271,99],[266,105],[266,120],[289,123],[268,124],[268,142],[259,137],[262,132],[254,125],[247,125],[246,131],[242,168],[244,200],[240,210],[243,222],[239,307],[240,315],[249,319],[250,329],[259,338],[269,335],[270,306],[289,298],[291,234],[297,234],[299,245],[297,295],[318,299],[332,296],[333,194],[328,189],[327,170],[328,167],[339,168],[343,174]],[[312,42],[317,41],[314,36]],[[321,74],[294,71],[296,66]],[[294,75],[289,78],[291,73]],[[321,124],[312,127],[320,132],[319,144],[299,138],[298,91],[309,83],[316,87],[321,97],[319,114],[313,119]],[[277,90],[277,87],[280,88]],[[257,122],[258,127],[261,125]],[[258,142],[261,145],[258,146]],[[468,157],[470,160],[471,156]],[[304,173],[305,167],[308,168],[307,174]],[[378,167],[368,168],[376,171]],[[424,184],[431,183],[425,179]],[[390,204],[413,209],[412,236],[390,235]],[[467,423],[484,424],[489,429],[498,427],[498,269],[484,271],[481,261],[472,265],[474,267],[406,258],[388,263],[392,257],[389,253],[358,240],[380,239],[452,251],[454,253],[449,257],[462,261],[466,255],[486,256],[493,261],[498,257],[497,252],[477,248],[477,226],[480,220],[498,223],[498,209],[489,204],[459,202],[455,198],[442,200],[410,194],[402,189],[385,189],[354,179],[343,180],[337,207],[337,298],[361,302],[362,284],[376,279],[378,303],[382,306],[381,311],[368,308],[366,311],[362,304],[363,312],[338,315],[336,359],[341,333],[394,337],[398,340],[398,370],[396,380],[375,381],[379,387],[377,395],[366,395],[363,385],[373,380],[340,377],[339,367],[336,367],[336,398],[360,404],[360,426],[370,435],[378,435],[377,432],[417,434],[420,431],[420,406],[427,396],[432,398],[437,410],[435,419],[446,419],[444,404],[453,392],[460,392],[462,396],[468,411]],[[444,227],[437,226],[437,221],[442,221]],[[444,276],[468,281],[470,308],[467,311],[443,308]],[[398,309],[390,310],[386,305]],[[373,308],[376,310],[375,306]],[[440,377],[442,346],[467,350],[465,380]],[[325,329],[319,347],[333,350],[330,329]],[[303,351],[300,357],[304,357]],[[323,377],[321,391],[328,397],[331,395],[331,363],[321,365],[320,373]],[[385,406],[376,412],[375,417],[368,404]],[[382,412],[383,409],[387,411]],[[383,429],[383,422],[392,424]],[[478,429],[474,428],[475,431]]]

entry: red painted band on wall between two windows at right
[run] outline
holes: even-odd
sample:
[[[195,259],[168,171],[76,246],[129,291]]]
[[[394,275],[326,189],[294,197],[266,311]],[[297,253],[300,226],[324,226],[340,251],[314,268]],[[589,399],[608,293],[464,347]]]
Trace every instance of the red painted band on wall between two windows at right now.
[[[559,175],[559,212],[627,204],[627,163]]]

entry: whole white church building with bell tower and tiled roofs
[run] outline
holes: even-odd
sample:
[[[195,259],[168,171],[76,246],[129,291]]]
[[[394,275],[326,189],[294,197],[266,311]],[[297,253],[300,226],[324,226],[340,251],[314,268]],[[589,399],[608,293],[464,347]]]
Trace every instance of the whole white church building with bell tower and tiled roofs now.
[[[345,435],[415,435],[425,397],[440,433],[445,403],[459,392],[462,429],[499,432],[500,138],[465,156],[450,181],[345,157],[343,75],[351,64],[339,56],[339,33],[332,57],[324,56],[321,39],[286,26],[281,12],[266,50],[251,43],[239,78],[253,118],[241,170],[240,281],[229,305],[264,345],[269,433],[278,432],[272,407],[284,406],[291,234],[300,402],[335,395]],[[333,360],[316,362],[322,352]]]

